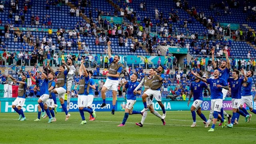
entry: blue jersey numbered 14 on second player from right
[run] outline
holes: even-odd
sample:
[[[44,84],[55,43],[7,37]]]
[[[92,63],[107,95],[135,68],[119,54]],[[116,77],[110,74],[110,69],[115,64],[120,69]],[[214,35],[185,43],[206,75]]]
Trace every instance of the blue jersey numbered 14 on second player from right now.
[[[228,78],[228,82],[231,88],[231,98],[240,99],[244,79],[238,78],[237,80],[234,80],[234,78]]]

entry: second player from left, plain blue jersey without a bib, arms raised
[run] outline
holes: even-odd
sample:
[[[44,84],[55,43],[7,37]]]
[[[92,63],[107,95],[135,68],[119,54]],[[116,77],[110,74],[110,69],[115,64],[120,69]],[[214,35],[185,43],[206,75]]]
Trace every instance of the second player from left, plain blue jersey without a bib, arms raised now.
[[[50,110],[47,108],[47,100],[49,99],[49,90],[48,90],[48,77],[46,76],[45,72],[43,72],[42,68],[39,68],[40,72],[41,72],[41,78],[42,81],[39,84],[39,88],[40,88],[40,98],[38,99],[38,104],[40,106],[40,108],[43,111],[42,117],[44,116],[44,114],[46,113],[47,116],[49,117],[49,121],[48,123],[52,122],[52,116],[50,114]],[[30,72],[29,72],[30,74]],[[31,74],[30,74],[31,76]],[[36,82],[36,80],[31,77],[31,80]]]

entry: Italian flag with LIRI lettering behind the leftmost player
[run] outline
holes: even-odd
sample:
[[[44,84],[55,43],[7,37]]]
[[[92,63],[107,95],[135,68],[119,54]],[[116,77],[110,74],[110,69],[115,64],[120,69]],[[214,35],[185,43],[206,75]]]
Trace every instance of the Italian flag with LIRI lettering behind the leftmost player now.
[[[16,98],[18,96],[18,86],[1,84],[0,89],[4,90],[4,98]],[[0,93],[0,97],[2,97],[2,92]]]

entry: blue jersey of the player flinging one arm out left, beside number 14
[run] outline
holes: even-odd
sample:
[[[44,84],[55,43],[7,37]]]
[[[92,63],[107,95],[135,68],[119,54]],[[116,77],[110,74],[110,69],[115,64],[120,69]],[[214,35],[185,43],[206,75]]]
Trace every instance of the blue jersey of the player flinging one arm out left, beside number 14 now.
[[[207,78],[207,84],[210,84],[210,89],[211,89],[211,99],[223,99],[223,93],[222,93],[222,88],[217,88],[217,85],[220,84],[222,86],[227,86],[228,83],[222,79],[222,78],[217,78],[217,79],[212,79],[212,78]]]

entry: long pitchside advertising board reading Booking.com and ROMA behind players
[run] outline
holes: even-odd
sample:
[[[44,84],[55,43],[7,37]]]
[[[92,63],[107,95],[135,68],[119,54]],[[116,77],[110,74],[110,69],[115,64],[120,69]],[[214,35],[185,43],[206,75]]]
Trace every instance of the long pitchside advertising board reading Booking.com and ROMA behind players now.
[[[123,98],[122,98],[123,99]],[[15,98],[0,98],[0,112],[14,112],[12,108],[12,102],[15,100]],[[92,109],[100,112],[100,111],[111,111],[112,109],[112,101],[106,100],[107,106],[104,108],[100,108],[100,105],[102,104],[102,100],[94,100],[92,104]],[[190,107],[192,106],[193,102],[190,102],[190,105],[188,106],[188,101],[170,101],[170,100],[162,100],[162,103],[164,104],[164,107],[167,111],[174,111],[174,110],[190,110]],[[60,102],[57,101],[58,106],[60,106]],[[37,98],[27,98],[24,106],[22,107],[22,110],[24,112],[37,112],[38,111],[38,102]],[[124,111],[126,106],[125,100],[117,100],[116,101],[116,111]],[[201,104],[202,110],[210,110],[211,101],[204,101]],[[256,103],[253,104],[254,109],[256,110]],[[155,110],[161,110],[160,105],[158,102],[153,101],[153,107]],[[246,107],[244,105],[244,107]],[[224,110],[232,110],[232,104],[231,101],[223,101],[223,108]],[[136,104],[134,105],[134,110],[142,110],[143,104],[142,100],[137,100]],[[58,112],[61,112],[61,109],[57,109]],[[70,101],[70,112],[78,112],[78,105],[77,105],[77,99],[72,98]]]

